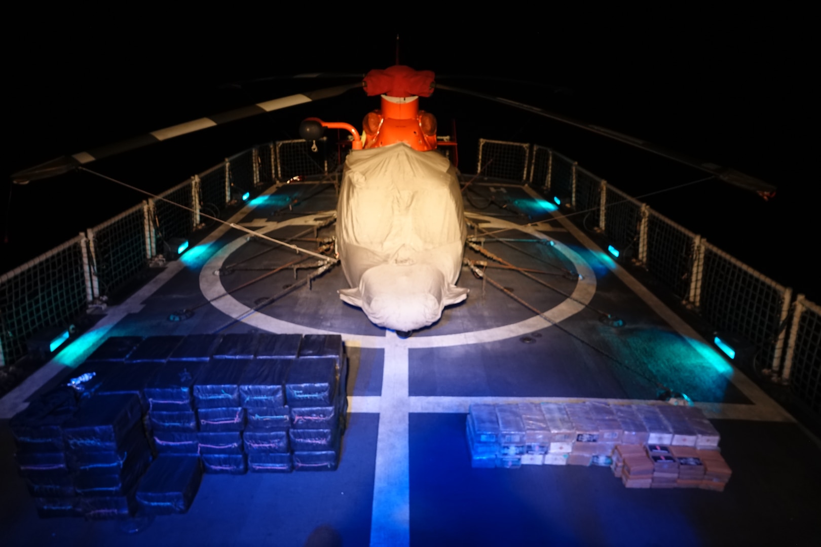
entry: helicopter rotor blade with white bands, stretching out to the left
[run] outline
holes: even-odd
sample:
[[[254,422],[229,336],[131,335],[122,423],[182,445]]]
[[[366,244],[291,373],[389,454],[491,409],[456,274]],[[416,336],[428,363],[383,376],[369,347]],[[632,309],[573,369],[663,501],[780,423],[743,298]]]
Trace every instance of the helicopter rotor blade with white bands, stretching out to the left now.
[[[306,76],[307,77],[307,76]],[[319,101],[323,98],[337,97],[349,89],[361,88],[362,83],[337,85],[333,88],[318,89],[308,93],[297,93],[287,97],[275,98],[264,103],[256,103],[249,107],[236,108],[229,112],[222,112],[215,116],[208,116],[198,120],[186,121],[184,124],[172,125],[161,130],[151,131],[132,139],[122,140],[118,143],[91,148],[85,152],[72,154],[71,156],[57,157],[49,162],[41,163],[38,166],[30,167],[22,171],[17,171],[11,175],[11,179],[20,185],[25,185],[30,180],[46,179],[51,176],[62,175],[103,157],[116,156],[117,154],[128,152],[136,148],[142,148],[149,144],[159,143],[163,140],[173,139],[183,134],[195,133],[196,131],[208,129],[215,125],[227,124],[231,121],[242,120],[250,116],[257,116],[266,112],[273,112],[282,108],[293,107],[297,104]]]

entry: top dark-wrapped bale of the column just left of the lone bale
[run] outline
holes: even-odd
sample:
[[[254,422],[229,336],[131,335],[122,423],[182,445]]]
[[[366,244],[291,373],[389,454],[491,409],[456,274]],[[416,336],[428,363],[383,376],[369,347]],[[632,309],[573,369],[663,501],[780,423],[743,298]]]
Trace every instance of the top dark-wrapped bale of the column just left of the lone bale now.
[[[63,440],[69,450],[117,450],[141,417],[140,398],[136,395],[97,395],[65,423]]]

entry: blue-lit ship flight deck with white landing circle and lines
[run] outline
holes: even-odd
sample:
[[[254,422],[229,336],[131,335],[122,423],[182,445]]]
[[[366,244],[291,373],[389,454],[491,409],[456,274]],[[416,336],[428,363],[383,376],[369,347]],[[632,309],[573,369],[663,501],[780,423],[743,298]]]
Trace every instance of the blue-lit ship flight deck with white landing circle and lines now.
[[[407,338],[342,303],[340,267],[312,277],[313,257],[213,230],[0,401],[4,544],[804,545],[821,509],[813,440],[545,203],[526,187],[476,185],[457,283],[470,294]],[[315,249],[333,245],[335,204],[332,184],[280,185],[232,221]],[[135,535],[39,519],[7,426],[25,399],[67,381],[105,337],[214,332],[342,335],[350,416],[338,469],[206,475],[188,513]],[[721,433],[724,492],[629,490],[602,467],[470,466],[471,403],[649,402],[662,388]]]

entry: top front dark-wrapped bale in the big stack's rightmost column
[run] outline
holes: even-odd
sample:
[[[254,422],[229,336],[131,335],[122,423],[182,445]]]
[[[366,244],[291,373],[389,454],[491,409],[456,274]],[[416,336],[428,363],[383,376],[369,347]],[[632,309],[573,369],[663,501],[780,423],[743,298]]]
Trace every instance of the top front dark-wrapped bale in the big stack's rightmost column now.
[[[290,407],[329,407],[337,394],[337,363],[333,358],[300,358],[291,365],[285,385]]]

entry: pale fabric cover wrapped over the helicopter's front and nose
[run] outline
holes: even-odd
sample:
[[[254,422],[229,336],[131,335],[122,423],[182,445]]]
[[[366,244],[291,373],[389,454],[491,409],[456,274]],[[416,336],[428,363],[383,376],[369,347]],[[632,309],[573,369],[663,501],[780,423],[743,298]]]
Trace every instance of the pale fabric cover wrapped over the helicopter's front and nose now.
[[[467,298],[456,287],[466,228],[456,169],[407,144],[348,154],[337,248],[351,289],[340,298],[378,326],[417,330]]]

